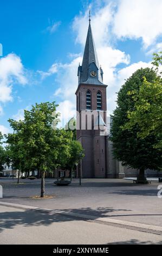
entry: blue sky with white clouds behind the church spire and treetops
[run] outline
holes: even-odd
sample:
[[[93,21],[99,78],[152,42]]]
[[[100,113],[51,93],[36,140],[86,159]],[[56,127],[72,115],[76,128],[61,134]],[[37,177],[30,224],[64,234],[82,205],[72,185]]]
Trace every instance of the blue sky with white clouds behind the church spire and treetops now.
[[[0,130],[35,102],[55,100],[64,123],[75,114],[77,66],[82,62],[88,9],[107,107],[115,108],[124,79],[151,66],[162,48],[161,0],[3,1],[0,16]],[[62,124],[63,125],[63,124]]]

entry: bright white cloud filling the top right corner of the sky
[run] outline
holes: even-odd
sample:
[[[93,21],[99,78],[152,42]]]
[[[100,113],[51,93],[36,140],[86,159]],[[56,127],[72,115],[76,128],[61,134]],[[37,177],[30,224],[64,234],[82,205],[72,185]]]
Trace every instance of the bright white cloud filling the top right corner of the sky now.
[[[122,0],[114,16],[117,38],[142,38],[147,47],[162,34],[161,0]]]

